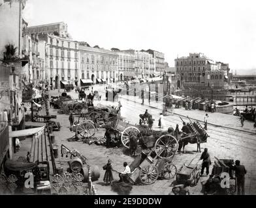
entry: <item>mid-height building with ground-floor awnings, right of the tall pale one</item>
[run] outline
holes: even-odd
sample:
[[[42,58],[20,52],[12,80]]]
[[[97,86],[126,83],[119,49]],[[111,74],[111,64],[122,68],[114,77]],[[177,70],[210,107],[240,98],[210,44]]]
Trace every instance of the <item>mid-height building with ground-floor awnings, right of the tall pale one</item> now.
[[[93,83],[114,82],[118,79],[118,54],[99,47],[89,47],[80,42],[80,79]]]

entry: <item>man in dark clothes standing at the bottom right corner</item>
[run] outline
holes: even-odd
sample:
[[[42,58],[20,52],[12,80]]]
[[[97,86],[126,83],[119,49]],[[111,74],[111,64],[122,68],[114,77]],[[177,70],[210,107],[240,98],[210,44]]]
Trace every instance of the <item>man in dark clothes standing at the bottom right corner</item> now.
[[[246,168],[242,164],[240,164],[240,161],[236,161],[234,166],[234,172],[236,174],[237,194],[241,195],[242,189],[242,195],[244,195],[244,175],[246,175]]]

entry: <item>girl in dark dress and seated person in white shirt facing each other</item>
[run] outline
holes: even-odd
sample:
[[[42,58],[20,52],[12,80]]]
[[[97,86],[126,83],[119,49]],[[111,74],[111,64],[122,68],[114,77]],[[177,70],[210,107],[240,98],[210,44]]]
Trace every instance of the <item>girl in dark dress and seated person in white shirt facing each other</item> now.
[[[120,180],[119,180],[120,183],[126,182],[127,178],[131,174],[131,169],[128,166],[127,162],[123,162],[123,167],[124,167],[123,172],[118,172],[118,171],[114,170],[111,163],[112,163],[112,161],[109,159],[108,163],[103,166],[103,170],[106,170],[106,172],[104,174],[104,179],[103,179],[104,183],[106,183],[106,185],[108,185],[108,184],[111,185],[112,181],[114,181],[112,172],[118,173],[118,175],[120,177]]]

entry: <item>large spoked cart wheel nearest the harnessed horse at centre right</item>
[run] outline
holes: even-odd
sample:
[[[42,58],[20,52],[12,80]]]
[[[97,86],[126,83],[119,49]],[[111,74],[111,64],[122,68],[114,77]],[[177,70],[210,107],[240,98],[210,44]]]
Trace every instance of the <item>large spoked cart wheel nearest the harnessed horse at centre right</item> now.
[[[178,141],[172,135],[163,135],[155,142],[155,153],[160,158],[172,157],[178,149]]]

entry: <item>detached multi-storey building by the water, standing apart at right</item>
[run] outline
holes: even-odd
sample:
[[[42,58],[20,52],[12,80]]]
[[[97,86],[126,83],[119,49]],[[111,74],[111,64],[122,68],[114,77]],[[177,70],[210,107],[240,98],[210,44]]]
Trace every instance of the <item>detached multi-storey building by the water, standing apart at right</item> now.
[[[225,64],[228,66],[228,64]],[[175,59],[178,88],[225,88],[228,84],[229,70],[224,64],[208,59],[202,53],[189,53],[189,57]]]

